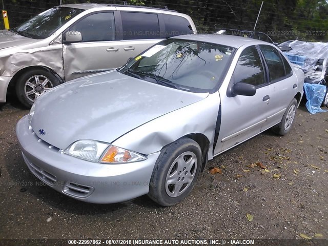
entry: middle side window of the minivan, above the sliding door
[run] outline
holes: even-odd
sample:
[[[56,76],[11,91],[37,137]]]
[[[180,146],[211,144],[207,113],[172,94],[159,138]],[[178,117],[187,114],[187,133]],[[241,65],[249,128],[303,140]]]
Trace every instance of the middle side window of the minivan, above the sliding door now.
[[[160,38],[157,14],[121,12],[123,39]]]

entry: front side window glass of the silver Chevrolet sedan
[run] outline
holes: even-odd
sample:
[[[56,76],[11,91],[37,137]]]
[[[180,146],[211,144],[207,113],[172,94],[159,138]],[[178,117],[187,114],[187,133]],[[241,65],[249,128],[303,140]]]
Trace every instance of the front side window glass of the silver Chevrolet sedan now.
[[[265,84],[263,65],[255,46],[250,46],[241,53],[233,77],[236,83],[253,86]]]

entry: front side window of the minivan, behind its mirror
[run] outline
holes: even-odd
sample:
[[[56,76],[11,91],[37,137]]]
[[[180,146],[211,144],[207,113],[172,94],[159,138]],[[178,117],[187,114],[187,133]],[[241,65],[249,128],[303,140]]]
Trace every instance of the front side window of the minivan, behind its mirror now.
[[[99,42],[115,40],[114,13],[96,13],[73,24],[69,31],[82,35],[82,42]]]

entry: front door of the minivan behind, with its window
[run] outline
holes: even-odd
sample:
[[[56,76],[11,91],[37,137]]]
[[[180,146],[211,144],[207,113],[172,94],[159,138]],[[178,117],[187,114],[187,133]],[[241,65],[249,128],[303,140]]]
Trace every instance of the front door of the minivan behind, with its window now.
[[[116,38],[115,12],[106,11],[89,14],[69,27],[63,34],[63,57],[65,79],[103,72],[125,64]],[[81,33],[82,40],[67,43],[65,34]]]

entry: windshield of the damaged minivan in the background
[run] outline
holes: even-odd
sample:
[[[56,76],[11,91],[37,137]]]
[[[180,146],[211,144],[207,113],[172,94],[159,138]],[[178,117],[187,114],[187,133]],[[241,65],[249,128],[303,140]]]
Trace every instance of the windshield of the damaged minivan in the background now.
[[[30,38],[44,39],[83,11],[82,9],[67,7],[52,8],[34,16],[10,31]]]

